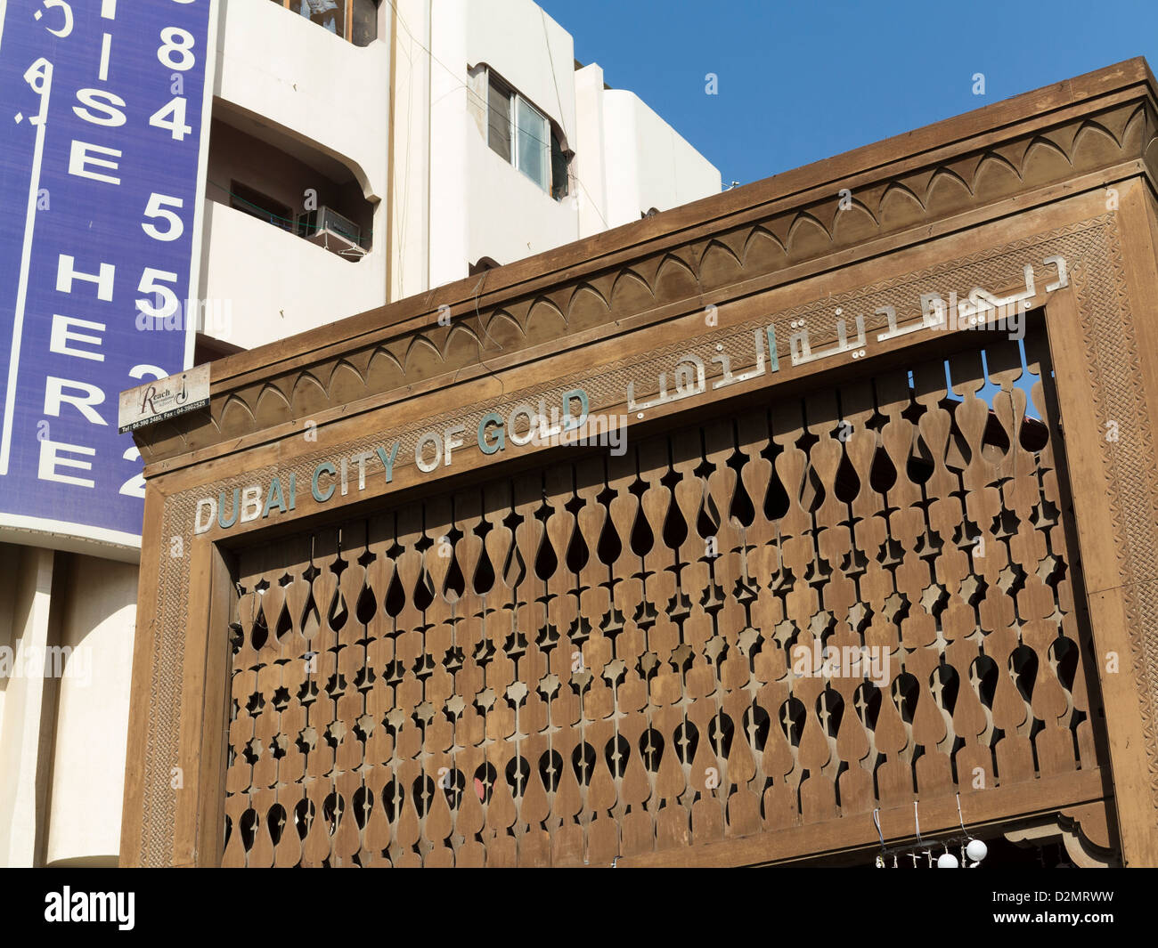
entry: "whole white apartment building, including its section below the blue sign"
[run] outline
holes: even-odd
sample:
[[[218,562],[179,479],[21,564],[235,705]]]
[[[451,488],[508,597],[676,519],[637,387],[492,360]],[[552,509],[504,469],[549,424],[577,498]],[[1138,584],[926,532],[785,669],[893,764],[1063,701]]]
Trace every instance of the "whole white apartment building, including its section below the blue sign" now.
[[[198,362],[720,190],[530,0],[220,0],[215,50]],[[138,551],[0,541],[0,865],[115,865]]]

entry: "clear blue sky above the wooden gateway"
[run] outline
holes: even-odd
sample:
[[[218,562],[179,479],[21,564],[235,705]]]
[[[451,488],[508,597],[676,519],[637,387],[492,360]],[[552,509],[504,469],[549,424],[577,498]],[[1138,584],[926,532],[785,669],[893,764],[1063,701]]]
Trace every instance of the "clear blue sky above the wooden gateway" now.
[[[704,154],[754,181],[1145,56],[1158,0],[538,0]],[[973,94],[974,73],[985,94]],[[704,91],[708,73],[718,95]]]

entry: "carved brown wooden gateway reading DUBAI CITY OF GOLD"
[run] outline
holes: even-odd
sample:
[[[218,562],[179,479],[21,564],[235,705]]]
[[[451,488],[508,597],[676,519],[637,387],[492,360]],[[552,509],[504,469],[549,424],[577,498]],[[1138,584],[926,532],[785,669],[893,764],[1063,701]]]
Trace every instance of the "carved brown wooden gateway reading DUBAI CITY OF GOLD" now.
[[[135,433],[123,862],[1158,865],[1156,105],[1133,60],[214,362]]]

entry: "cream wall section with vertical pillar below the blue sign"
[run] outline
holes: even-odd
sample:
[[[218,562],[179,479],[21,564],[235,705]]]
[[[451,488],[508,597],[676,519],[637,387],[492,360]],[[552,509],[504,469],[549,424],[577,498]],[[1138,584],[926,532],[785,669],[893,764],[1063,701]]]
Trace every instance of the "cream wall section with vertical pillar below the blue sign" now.
[[[137,567],[0,544],[0,865],[115,866]]]

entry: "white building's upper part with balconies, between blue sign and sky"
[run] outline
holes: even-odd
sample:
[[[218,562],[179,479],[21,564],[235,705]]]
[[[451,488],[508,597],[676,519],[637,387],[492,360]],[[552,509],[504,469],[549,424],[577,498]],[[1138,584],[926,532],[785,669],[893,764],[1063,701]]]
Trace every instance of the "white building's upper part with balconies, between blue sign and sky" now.
[[[529,0],[310,7],[222,5],[201,293],[215,340],[249,348],[720,190]]]

